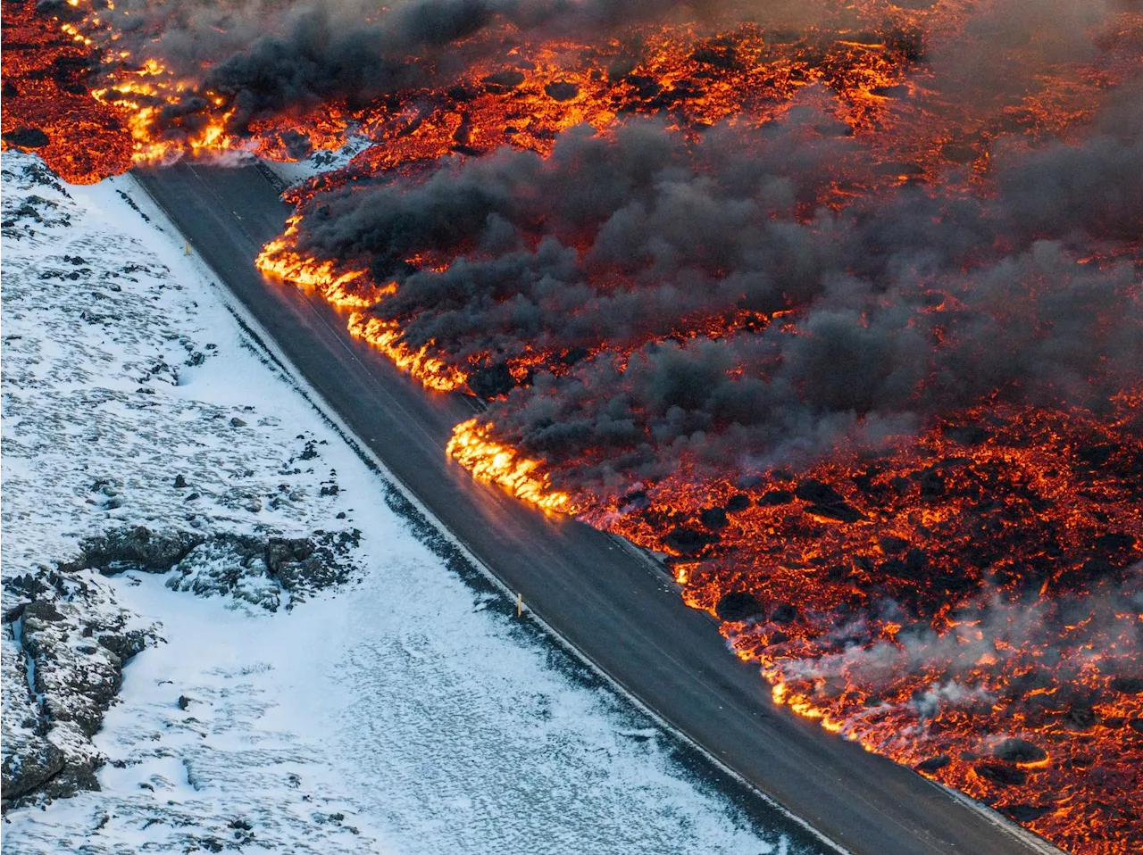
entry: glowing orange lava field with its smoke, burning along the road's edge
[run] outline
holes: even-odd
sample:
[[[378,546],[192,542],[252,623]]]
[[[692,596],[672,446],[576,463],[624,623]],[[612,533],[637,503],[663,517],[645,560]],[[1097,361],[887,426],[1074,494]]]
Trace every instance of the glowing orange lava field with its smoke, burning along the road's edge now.
[[[453,457],[664,553],[778,703],[1137,850],[1132,5],[462,6],[6,14],[118,117],[75,163],[371,141],[258,264],[485,399]]]

